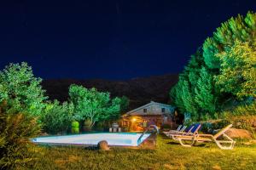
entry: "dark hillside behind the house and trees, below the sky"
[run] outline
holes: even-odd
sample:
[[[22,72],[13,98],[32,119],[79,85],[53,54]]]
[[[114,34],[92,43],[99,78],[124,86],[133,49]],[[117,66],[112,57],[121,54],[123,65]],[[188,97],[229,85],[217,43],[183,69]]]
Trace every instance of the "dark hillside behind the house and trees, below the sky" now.
[[[156,77],[134,78],[127,81],[108,81],[103,79],[49,79],[44,80],[43,88],[49,99],[65,101],[68,98],[68,87],[75,83],[85,88],[95,87],[100,91],[108,91],[112,96],[127,96],[130,109],[144,105],[150,100],[161,103],[169,102],[169,92],[177,82],[177,75],[164,75]]]

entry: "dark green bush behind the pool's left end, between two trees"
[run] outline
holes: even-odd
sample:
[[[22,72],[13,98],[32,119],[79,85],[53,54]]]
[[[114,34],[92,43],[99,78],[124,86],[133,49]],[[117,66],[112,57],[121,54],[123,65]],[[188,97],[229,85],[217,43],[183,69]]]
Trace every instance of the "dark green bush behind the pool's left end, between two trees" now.
[[[46,133],[66,133],[67,127],[73,120],[73,104],[64,102],[62,105],[55,100],[47,104],[43,116],[40,119],[44,124]]]

